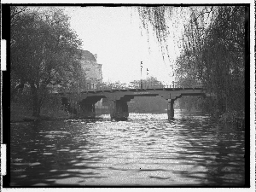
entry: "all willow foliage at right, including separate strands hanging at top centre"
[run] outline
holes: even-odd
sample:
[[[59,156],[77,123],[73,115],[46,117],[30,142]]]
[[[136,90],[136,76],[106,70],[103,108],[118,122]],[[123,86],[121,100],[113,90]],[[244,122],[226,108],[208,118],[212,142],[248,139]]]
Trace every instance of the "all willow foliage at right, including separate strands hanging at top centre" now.
[[[143,27],[153,32],[168,51],[166,38],[171,31],[169,20],[176,21],[172,7],[139,8]],[[244,111],[245,7],[211,6],[183,8],[182,53],[176,61],[176,79],[180,86],[203,84],[207,100],[186,97],[179,100],[185,108],[189,102],[202,109],[227,113]],[[171,22],[173,24],[173,22]],[[163,53],[163,55],[165,55]],[[170,55],[170,53],[169,53]],[[200,104],[201,103],[201,104]]]

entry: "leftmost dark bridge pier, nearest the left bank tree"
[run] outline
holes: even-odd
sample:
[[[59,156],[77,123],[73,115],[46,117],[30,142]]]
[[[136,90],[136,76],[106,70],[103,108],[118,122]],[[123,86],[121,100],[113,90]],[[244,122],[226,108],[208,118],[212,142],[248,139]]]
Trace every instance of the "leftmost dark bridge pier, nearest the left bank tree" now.
[[[95,113],[95,103],[94,102],[79,102],[80,110],[78,116],[84,119],[94,119]]]

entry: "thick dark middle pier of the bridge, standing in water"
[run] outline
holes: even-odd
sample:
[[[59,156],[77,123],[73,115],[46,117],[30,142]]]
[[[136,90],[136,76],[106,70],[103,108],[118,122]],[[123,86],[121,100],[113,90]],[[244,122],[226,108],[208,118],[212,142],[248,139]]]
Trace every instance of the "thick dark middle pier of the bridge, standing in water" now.
[[[123,100],[113,100],[109,106],[111,119],[122,120],[127,119],[129,116],[128,105]]]

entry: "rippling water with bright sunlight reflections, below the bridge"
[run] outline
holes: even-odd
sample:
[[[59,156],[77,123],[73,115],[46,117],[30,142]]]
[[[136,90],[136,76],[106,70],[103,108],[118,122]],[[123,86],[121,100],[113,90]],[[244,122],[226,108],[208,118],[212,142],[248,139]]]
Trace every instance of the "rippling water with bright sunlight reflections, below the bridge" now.
[[[200,113],[11,124],[13,186],[244,183],[244,131]]]

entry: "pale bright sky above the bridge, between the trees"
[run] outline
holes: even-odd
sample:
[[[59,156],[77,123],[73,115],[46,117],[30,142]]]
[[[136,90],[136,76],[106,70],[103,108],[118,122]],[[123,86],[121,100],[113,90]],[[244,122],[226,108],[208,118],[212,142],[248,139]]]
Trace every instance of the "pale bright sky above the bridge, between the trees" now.
[[[83,41],[82,49],[97,54],[102,64],[103,82],[129,83],[153,76],[165,84],[172,83],[170,62],[164,62],[160,45],[140,28],[137,11],[130,7],[68,7],[71,27]],[[143,34],[143,35],[142,35]],[[171,44],[171,59],[177,57]],[[147,74],[148,68],[148,74]]]

